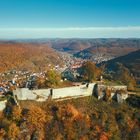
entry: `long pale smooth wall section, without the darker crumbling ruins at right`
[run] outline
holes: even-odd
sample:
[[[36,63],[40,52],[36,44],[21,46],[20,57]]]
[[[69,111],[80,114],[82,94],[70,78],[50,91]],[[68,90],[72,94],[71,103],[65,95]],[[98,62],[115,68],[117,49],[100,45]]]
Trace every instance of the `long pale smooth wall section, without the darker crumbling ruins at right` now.
[[[39,89],[29,90],[27,88],[16,89],[13,91],[15,98],[18,100],[36,100],[45,101],[50,95],[52,99],[72,98],[79,96],[90,96],[93,93],[94,83],[86,85],[58,88],[58,89]]]

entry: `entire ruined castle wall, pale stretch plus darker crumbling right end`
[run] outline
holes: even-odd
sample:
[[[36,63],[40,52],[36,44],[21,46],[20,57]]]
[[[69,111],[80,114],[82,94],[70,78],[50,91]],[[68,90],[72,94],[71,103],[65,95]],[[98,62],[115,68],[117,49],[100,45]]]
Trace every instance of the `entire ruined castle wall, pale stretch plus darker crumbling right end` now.
[[[58,89],[39,89],[39,90],[29,90],[28,88],[16,89],[13,91],[15,99],[18,100],[36,100],[36,101],[46,101],[47,99],[60,100],[64,98],[78,98],[84,96],[96,95],[98,99],[105,96],[105,89],[111,90],[111,98],[117,98],[118,102],[122,102],[128,97],[127,86],[106,86],[91,83],[86,87],[86,85],[73,86]],[[124,94],[118,94],[117,90],[124,90]],[[118,96],[117,96],[118,95]]]

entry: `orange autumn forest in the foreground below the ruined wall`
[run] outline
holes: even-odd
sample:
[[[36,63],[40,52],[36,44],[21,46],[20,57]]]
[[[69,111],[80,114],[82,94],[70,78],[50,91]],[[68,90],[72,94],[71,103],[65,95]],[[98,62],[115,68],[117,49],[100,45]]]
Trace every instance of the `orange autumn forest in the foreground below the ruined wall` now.
[[[134,100],[133,100],[134,101]],[[60,102],[21,101],[0,116],[0,138],[139,140],[140,110],[94,97]]]

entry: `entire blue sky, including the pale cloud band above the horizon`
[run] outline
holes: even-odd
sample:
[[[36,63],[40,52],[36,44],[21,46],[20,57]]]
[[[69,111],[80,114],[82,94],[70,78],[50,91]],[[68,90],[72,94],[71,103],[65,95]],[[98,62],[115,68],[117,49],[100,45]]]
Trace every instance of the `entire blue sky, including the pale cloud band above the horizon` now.
[[[140,37],[140,0],[0,0],[0,38]]]

